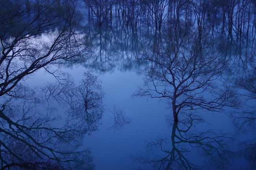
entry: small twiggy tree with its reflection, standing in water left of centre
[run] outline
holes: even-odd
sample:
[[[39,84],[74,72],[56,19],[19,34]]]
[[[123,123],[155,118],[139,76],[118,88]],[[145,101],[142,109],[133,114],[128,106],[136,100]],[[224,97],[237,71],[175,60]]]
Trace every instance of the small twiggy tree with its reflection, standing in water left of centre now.
[[[83,75],[85,78],[68,94],[70,104],[68,114],[73,120],[79,121],[77,128],[85,128],[93,132],[97,129],[104,111],[104,92],[97,76],[89,72]]]

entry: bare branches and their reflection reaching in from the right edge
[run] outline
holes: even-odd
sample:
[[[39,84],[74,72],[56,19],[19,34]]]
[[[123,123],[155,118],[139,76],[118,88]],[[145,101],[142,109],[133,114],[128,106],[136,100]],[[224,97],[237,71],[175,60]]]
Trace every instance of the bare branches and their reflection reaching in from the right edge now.
[[[255,47],[254,47],[255,50]],[[231,111],[230,117],[238,133],[248,134],[250,140],[240,142],[239,151],[249,165],[248,169],[256,169],[256,58],[255,55],[250,57],[247,67],[237,74],[235,87],[239,89],[241,98],[244,101],[244,107]]]

